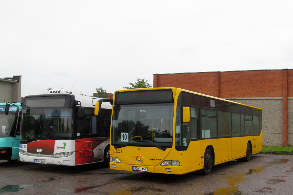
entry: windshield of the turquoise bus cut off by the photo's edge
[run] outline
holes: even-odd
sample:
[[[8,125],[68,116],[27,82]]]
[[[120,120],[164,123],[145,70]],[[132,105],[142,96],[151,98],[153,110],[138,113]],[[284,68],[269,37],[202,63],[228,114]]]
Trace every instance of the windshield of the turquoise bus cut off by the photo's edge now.
[[[10,105],[8,115],[5,115],[5,105],[0,106],[0,137],[12,137],[11,129],[14,124],[17,106]]]

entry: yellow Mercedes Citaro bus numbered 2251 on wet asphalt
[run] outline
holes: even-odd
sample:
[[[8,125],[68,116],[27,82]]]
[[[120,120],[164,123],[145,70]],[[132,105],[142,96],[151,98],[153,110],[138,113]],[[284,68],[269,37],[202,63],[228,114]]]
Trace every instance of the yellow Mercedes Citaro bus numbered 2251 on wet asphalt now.
[[[116,91],[110,169],[167,174],[249,161],[262,150],[262,110],[180,88]]]

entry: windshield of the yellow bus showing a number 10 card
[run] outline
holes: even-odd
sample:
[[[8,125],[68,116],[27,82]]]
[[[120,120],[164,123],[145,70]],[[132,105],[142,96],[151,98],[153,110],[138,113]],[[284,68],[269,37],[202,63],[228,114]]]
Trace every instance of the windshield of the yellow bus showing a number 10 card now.
[[[171,147],[173,113],[173,103],[116,105],[111,144]]]

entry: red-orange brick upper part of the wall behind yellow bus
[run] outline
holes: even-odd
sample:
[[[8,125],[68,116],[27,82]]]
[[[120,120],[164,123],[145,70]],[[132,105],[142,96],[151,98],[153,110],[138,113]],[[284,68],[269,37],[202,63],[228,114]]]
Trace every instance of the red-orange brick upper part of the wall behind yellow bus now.
[[[293,96],[293,70],[288,95]],[[179,87],[216,97],[282,97],[283,70],[154,74],[154,87]]]

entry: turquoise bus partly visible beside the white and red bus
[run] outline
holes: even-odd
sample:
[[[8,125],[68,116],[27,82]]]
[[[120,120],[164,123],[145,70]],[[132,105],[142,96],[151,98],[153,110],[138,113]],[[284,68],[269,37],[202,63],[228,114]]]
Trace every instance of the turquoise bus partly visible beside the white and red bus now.
[[[21,103],[0,103],[0,160],[19,159]]]

